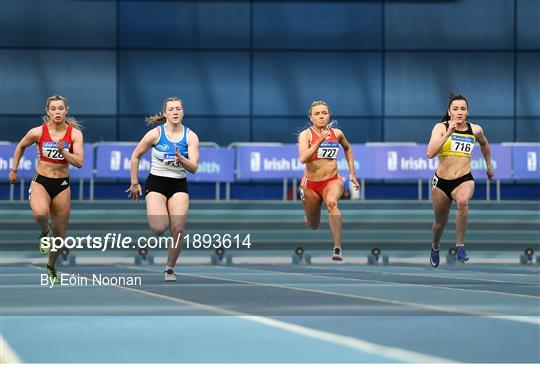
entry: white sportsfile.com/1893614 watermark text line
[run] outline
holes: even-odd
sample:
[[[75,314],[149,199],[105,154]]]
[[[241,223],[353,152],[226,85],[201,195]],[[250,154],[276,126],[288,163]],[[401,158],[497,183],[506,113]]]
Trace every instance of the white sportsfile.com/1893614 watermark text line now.
[[[58,251],[62,249],[91,249],[105,252],[115,249],[168,249],[183,247],[185,249],[241,249],[251,248],[251,235],[238,233],[215,234],[178,234],[172,236],[139,236],[132,237],[125,233],[109,232],[105,235],[43,237],[40,241],[43,249]]]

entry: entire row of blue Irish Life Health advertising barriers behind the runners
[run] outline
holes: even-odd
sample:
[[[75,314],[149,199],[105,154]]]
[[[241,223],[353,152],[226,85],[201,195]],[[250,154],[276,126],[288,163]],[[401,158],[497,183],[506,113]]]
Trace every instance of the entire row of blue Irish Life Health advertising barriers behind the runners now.
[[[3,181],[7,179],[15,146],[15,143],[0,142],[0,179]],[[72,179],[90,179],[91,197],[94,177],[129,179],[130,159],[135,146],[135,142],[101,142],[95,145],[85,143],[83,167],[77,169],[70,166]],[[438,165],[437,158],[430,160],[426,157],[426,148],[427,146],[423,144],[353,144],[356,176],[362,180],[417,179],[420,185],[421,180],[433,176]],[[36,155],[35,146],[26,148],[18,167],[21,181],[34,175]],[[540,180],[539,144],[492,144],[491,157],[497,185],[500,179]],[[340,175],[347,179],[349,171],[341,148],[337,163]],[[144,179],[148,175],[150,165],[148,152],[141,158],[139,178]],[[234,148],[201,147],[199,169],[196,174],[189,174],[188,179],[194,182],[215,182],[216,196],[219,196],[219,182],[283,180],[285,186],[287,179],[293,181],[300,179],[304,168],[305,165],[298,158],[296,144],[240,144]],[[476,180],[486,179],[485,161],[478,145],[473,150],[471,169]],[[227,184],[227,189],[229,188]],[[82,193],[80,194],[82,196]]]

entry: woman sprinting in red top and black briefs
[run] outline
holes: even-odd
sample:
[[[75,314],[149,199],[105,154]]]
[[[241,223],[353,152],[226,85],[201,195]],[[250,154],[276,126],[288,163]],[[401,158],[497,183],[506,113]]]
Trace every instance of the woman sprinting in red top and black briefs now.
[[[43,238],[49,236],[51,229],[55,237],[66,236],[71,209],[68,165],[80,168],[83,164],[83,135],[77,121],[66,117],[68,110],[64,97],[55,95],[47,99],[44,123],[30,129],[21,139],[15,148],[9,170],[9,182],[14,184],[25,148],[37,144],[39,159],[29,192],[30,207],[41,228],[39,249],[43,254],[49,252],[49,247],[43,244]],[[52,228],[49,225],[49,212]],[[47,273],[55,283],[59,282],[54,268],[59,254],[59,250],[50,251],[47,263]]]

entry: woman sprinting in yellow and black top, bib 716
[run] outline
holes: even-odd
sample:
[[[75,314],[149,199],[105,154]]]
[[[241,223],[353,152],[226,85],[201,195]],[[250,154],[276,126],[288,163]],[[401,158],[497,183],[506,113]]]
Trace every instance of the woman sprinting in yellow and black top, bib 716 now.
[[[440,239],[448,223],[452,200],[456,201],[456,248],[457,259],[467,261],[464,240],[467,228],[469,200],[474,193],[474,178],[471,174],[471,155],[478,142],[486,160],[486,174],[493,178],[489,142],[482,127],[467,122],[469,105],[461,95],[450,98],[448,112],[440,123],[433,127],[427,148],[427,156],[439,156],[439,166],[432,180],[433,243],[431,266],[439,266]]]

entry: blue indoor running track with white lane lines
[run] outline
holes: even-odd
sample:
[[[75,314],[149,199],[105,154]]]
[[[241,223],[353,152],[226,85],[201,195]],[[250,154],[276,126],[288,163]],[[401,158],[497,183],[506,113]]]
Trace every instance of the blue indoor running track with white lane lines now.
[[[130,207],[107,214],[126,215]],[[194,204],[190,217],[197,222],[197,217],[202,219],[197,210],[207,208]],[[27,219],[17,218],[18,211],[24,212],[22,206],[10,209],[3,215],[3,233],[15,227],[7,221],[16,225]],[[80,223],[77,217],[84,209],[74,210],[72,224]],[[381,213],[370,206],[354,207],[358,212],[370,209],[372,218]],[[403,209],[410,212],[407,219],[426,224],[429,237],[429,214],[423,218],[428,208],[418,203]],[[486,209],[471,212],[478,218],[473,224],[495,219],[482,212]],[[538,215],[534,209],[529,213],[522,214],[522,221],[536,229]],[[354,216],[353,207],[344,207],[347,214]],[[258,223],[253,224],[255,232]],[[30,227],[36,236],[35,227]],[[316,233],[329,236],[326,226]],[[383,244],[383,252],[395,252],[390,264],[367,265],[354,260],[365,259],[367,246],[344,241],[344,263],[332,264],[328,249],[313,251],[312,264],[294,265],[287,260],[296,242],[287,234],[291,249],[285,254],[253,251],[244,263],[211,265],[210,252],[185,252],[175,269],[176,283],[163,281],[164,252],[156,252],[156,264],[135,265],[133,252],[72,251],[77,263],[59,266],[59,272],[89,278],[87,285],[49,288],[41,285],[45,261],[35,249],[3,250],[3,356],[8,349],[12,359],[40,363],[540,362],[540,265],[536,259],[531,265],[519,264],[522,247],[515,247],[514,254],[488,247],[481,251],[473,245],[468,263],[446,264],[443,254],[441,267],[433,269],[429,243],[418,246],[423,250],[401,254],[392,251],[397,243],[388,251]],[[276,231],[275,238],[284,235]],[[451,236],[444,242],[446,249],[450,240]],[[284,263],[272,259],[278,254]],[[111,258],[108,264],[90,263],[103,255]],[[400,261],[400,256],[411,258]],[[275,262],[257,263],[265,257]],[[195,263],[196,258],[207,263]],[[136,276],[141,284],[94,285],[94,274]]]

